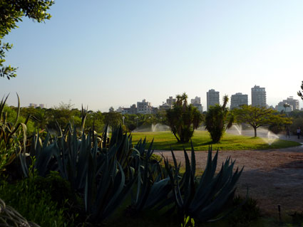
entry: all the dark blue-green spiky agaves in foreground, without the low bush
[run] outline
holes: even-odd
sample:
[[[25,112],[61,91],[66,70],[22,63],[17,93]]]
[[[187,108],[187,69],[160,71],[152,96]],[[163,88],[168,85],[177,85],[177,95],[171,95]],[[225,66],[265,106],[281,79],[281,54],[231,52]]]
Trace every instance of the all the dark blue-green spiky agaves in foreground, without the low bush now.
[[[84,121],[85,116],[83,124]],[[29,154],[21,154],[24,175],[30,175],[29,165],[39,176],[57,171],[71,184],[74,197],[81,199],[78,205],[85,211],[86,221],[95,224],[108,219],[121,204],[125,204],[130,194],[133,199],[126,204],[130,213],[169,210],[168,213],[178,211],[197,221],[208,221],[223,211],[235,191],[241,171],[234,174],[235,162],[230,163],[227,159],[221,170],[222,176],[216,176],[217,158],[212,159],[211,149],[207,167],[198,177],[202,179],[199,183],[195,178],[193,149],[191,164],[185,152],[188,162],[185,174],[179,180],[180,166],[176,160],[173,167],[166,160],[164,169],[158,160],[151,159],[153,144],[147,149],[144,140],[133,147],[131,136],[123,134],[121,127],[113,131],[109,143],[106,134],[104,132],[103,137],[93,131],[78,134],[69,125],[58,137],[48,134],[42,141],[38,134],[34,135]],[[36,162],[31,163],[31,160]],[[176,188],[175,184],[180,187]],[[183,202],[180,204],[181,198]]]

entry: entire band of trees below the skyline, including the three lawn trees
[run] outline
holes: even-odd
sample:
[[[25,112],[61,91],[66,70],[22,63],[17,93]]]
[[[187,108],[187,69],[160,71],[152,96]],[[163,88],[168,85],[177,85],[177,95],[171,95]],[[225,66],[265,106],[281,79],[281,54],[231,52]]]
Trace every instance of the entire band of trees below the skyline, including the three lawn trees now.
[[[172,109],[167,110],[166,114],[160,112],[157,115],[121,115],[119,112],[89,110],[86,126],[94,126],[96,132],[102,132],[106,125],[111,128],[122,125],[124,132],[131,132],[137,128],[150,129],[151,125],[161,123],[170,127],[178,142],[185,143],[190,141],[194,130],[204,124],[205,129],[210,132],[212,142],[217,143],[234,123],[250,125],[255,130],[255,137],[257,137],[259,127],[270,127],[270,130],[279,131],[290,126],[290,130],[293,130],[291,117],[294,117],[294,123],[303,119],[303,112],[292,112],[286,117],[275,110],[250,105],[243,105],[230,111],[227,108],[227,96],[223,98],[222,105],[212,106],[206,113],[201,114],[197,108],[188,104],[187,99],[188,96],[185,93],[177,95],[177,102]],[[5,108],[8,117],[14,120],[17,108],[7,106]],[[57,130],[58,127],[61,127],[63,129],[69,121],[72,121],[77,127],[81,127],[81,110],[73,108],[70,103],[61,102],[57,107],[49,109],[24,107],[21,108],[20,115],[20,122],[25,122],[26,118],[30,116],[27,123],[28,132],[34,131],[35,128]]]

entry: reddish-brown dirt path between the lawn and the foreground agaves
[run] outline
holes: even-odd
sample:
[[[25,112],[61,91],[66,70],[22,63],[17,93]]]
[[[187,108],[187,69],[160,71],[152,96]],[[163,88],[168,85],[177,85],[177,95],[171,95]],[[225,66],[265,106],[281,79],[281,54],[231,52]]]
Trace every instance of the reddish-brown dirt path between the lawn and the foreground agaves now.
[[[190,152],[188,152],[190,155]],[[171,153],[163,151],[172,159]],[[175,152],[184,164],[183,151]],[[207,152],[195,152],[197,168],[204,169]],[[218,163],[227,157],[236,159],[236,167],[245,166],[237,186],[237,193],[257,199],[260,208],[277,213],[277,204],[283,211],[303,211],[303,147],[255,151],[222,151]]]

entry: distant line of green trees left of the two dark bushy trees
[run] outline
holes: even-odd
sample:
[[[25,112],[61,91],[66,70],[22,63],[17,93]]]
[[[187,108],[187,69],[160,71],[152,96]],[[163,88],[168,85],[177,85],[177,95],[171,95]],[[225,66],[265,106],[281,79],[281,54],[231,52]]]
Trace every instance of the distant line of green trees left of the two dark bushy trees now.
[[[17,115],[17,107],[5,107],[9,120],[14,121]],[[151,128],[151,125],[157,123],[165,124],[165,113],[158,113],[157,115],[122,115],[119,112],[101,112],[101,111],[87,111],[86,126],[93,127],[96,132],[103,132],[104,127],[109,125],[111,128],[121,125],[124,132],[131,132],[138,128]],[[22,107],[20,110],[19,122],[27,122],[28,132],[31,133],[35,129],[38,130],[58,130],[58,127],[64,129],[68,122],[72,121],[76,127],[81,127],[81,110],[73,108],[69,103],[61,102],[58,106],[53,108],[40,107]],[[166,124],[165,124],[166,125]]]

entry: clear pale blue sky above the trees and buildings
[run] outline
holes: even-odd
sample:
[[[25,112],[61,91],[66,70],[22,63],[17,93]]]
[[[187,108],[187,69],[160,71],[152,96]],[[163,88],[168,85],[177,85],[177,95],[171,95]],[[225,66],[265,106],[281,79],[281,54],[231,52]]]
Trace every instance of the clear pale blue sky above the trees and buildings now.
[[[186,92],[201,97],[265,87],[267,104],[297,98],[303,80],[303,1],[55,1],[46,23],[24,19],[6,41],[0,78],[9,104],[59,102],[91,110],[153,106]],[[303,107],[300,101],[300,107]]]

